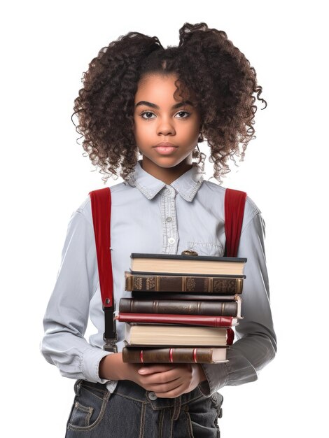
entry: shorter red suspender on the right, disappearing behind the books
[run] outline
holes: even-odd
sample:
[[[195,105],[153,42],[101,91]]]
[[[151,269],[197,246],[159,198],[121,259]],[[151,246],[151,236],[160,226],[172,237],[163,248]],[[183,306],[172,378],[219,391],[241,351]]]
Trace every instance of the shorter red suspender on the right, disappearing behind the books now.
[[[245,203],[246,192],[225,190],[225,257],[237,257]]]

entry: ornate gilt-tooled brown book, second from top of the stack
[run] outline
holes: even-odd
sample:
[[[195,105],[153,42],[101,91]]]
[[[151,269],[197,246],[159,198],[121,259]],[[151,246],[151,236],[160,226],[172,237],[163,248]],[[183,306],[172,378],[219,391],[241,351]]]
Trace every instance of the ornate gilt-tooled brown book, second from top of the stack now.
[[[241,294],[245,276],[136,274],[125,271],[125,290]]]

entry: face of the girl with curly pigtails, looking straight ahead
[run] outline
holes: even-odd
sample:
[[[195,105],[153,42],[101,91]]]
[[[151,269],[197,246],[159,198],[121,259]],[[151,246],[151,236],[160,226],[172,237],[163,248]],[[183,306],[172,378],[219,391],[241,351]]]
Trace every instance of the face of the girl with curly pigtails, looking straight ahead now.
[[[200,112],[193,102],[174,99],[175,80],[174,74],[145,76],[134,100],[134,136],[142,166],[156,178],[190,169],[200,133]]]

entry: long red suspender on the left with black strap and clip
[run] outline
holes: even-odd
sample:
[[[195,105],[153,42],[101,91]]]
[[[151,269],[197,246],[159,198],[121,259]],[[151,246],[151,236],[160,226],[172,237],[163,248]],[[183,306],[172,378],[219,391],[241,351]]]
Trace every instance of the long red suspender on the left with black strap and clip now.
[[[113,272],[111,260],[111,190],[104,188],[89,193],[92,203],[92,222],[97,250],[99,286],[105,317],[104,350],[116,352],[116,310],[113,297]]]

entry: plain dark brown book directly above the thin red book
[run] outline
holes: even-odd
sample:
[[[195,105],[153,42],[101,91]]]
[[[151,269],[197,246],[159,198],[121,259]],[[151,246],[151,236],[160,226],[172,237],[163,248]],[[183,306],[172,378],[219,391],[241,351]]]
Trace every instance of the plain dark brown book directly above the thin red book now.
[[[188,315],[237,316],[237,302],[121,298],[123,313],[179,313]]]

